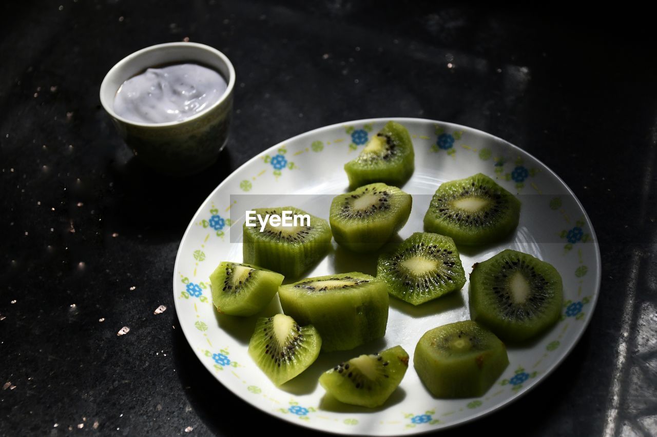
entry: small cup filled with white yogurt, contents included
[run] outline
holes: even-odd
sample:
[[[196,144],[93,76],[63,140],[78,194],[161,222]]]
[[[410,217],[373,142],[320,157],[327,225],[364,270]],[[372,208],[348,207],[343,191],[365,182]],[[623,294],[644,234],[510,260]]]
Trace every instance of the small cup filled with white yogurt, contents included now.
[[[103,79],[100,97],[137,159],[185,176],[212,165],[225,146],[234,88],[235,69],[225,54],[198,43],[166,43],[120,60]]]

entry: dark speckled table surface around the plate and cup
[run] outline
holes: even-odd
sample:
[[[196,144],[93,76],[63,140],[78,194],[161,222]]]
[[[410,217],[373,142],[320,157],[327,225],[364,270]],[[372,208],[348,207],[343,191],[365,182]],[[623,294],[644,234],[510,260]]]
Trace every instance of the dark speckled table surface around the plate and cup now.
[[[342,0],[1,8],[0,434],[235,435],[253,423],[311,434],[204,369],[176,329],[173,262],[200,202],[254,154],[390,116],[461,123],[528,150],[574,190],[602,253],[599,303],[568,359],[521,402],[445,434],[657,433],[646,14]],[[133,159],[98,93],[125,55],[187,38],[235,64],[235,117],[219,161],[174,180]],[[168,310],[154,316],[160,304]]]

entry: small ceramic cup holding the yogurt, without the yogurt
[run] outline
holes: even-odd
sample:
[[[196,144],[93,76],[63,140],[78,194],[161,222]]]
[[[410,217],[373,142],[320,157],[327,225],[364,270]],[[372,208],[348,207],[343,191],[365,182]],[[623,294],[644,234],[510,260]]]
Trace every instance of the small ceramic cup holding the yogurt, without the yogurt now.
[[[127,79],[149,67],[183,62],[202,64],[223,75],[228,87],[218,102],[170,123],[139,123],[114,112],[114,96]],[[234,87],[235,69],[222,52],[198,43],[158,44],[134,52],[112,67],[102,81],[101,104],[137,158],[166,175],[186,176],[212,165],[225,146]]]

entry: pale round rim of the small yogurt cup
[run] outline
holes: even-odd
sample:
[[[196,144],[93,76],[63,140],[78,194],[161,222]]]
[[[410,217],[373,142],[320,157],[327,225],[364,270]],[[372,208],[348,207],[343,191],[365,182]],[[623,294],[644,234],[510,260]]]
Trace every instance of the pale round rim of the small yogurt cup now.
[[[165,49],[167,47],[197,47],[198,49],[203,49],[203,50],[212,52],[212,54],[214,54],[219,59],[221,59],[221,61],[224,64],[226,64],[226,67],[228,68],[228,75],[229,75],[229,77],[228,77],[228,86],[226,87],[226,91],[224,91],[221,98],[219,98],[219,100],[214,102],[214,104],[212,104],[212,106],[210,106],[210,108],[207,108],[206,110],[204,110],[204,111],[202,111],[198,114],[194,114],[191,117],[186,118],[182,121],[167,121],[166,123],[142,123],[141,121],[130,120],[130,119],[127,119],[125,117],[122,117],[122,116],[116,114],[116,112],[114,112],[114,105],[113,105],[114,100],[112,100],[112,102],[106,102],[106,99],[103,98],[103,94],[104,94],[103,91],[105,91],[106,88],[110,86],[109,85],[110,77],[112,77],[112,75],[116,74],[117,70],[120,67],[124,66],[128,62],[132,62],[133,60],[139,58],[139,56],[142,56],[143,54],[145,54],[147,52],[158,51],[158,50],[161,50],[161,49]],[[201,43],[185,43],[185,42],[162,43],[162,44],[151,45],[149,47],[145,47],[144,49],[133,52],[133,53],[125,56],[125,58],[123,58],[122,60],[120,60],[116,64],[114,64],[114,66],[112,68],[110,68],[110,70],[107,72],[104,79],[102,79],[101,89],[100,89],[100,92],[99,92],[99,97],[101,98],[102,107],[104,108],[104,110],[112,118],[117,119],[118,121],[121,121],[122,123],[125,123],[127,125],[133,125],[133,126],[137,126],[137,127],[146,127],[146,128],[148,128],[148,127],[155,128],[155,127],[180,126],[180,125],[183,125],[187,122],[194,121],[194,120],[198,119],[199,117],[202,117],[202,116],[208,114],[208,112],[210,112],[212,109],[214,109],[217,106],[219,106],[220,104],[222,104],[225,100],[227,100],[227,98],[229,98],[229,96],[231,94],[233,94],[233,88],[234,87],[235,87],[235,68],[233,67],[233,64],[231,63],[231,60],[229,60],[228,56],[226,56],[222,52],[218,51],[214,47],[210,47],[209,45],[205,45],[205,44],[201,44]],[[114,95],[116,95],[116,92],[115,92]]]

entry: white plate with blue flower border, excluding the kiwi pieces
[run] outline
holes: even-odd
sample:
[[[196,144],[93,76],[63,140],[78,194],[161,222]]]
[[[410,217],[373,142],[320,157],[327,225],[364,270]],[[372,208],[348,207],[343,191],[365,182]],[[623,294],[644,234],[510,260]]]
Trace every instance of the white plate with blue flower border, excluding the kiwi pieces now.
[[[338,362],[396,344],[401,344],[412,360],[415,344],[425,331],[469,318],[468,284],[460,293],[419,307],[391,297],[384,339],[356,350],[322,354],[302,375],[280,388],[274,386],[248,356],[256,317],[218,316],[211,302],[210,273],[220,261],[242,261],[242,221],[247,209],[294,201],[292,205],[328,220],[330,199],[345,192],[348,185],[342,166],[357,156],[386,121],[369,119],[323,127],[254,157],[204,201],[177,254],[175,306],[198,359],[236,396],[297,425],[344,434],[394,435],[451,427],[482,417],[547,377],[575,346],[595,308],[600,287],[595,233],[578,199],[555,173],[520,148],[487,133],[440,121],[398,118],[415,146],[415,173],[403,186],[413,195],[413,211],[399,233],[401,238],[422,231],[422,218],[440,183],[480,172],[496,178],[522,201],[520,224],[508,241],[480,251],[462,250],[465,271],[469,273],[474,262],[506,248],[547,260],[564,280],[562,319],[531,346],[509,347],[509,367],[481,398],[432,398],[410,365],[383,407],[369,410],[323,400],[325,392],[317,378]],[[246,196],[254,194],[259,196]],[[374,259],[336,249],[307,276],[353,270],[373,274]],[[276,297],[261,316],[275,314],[279,308]]]

